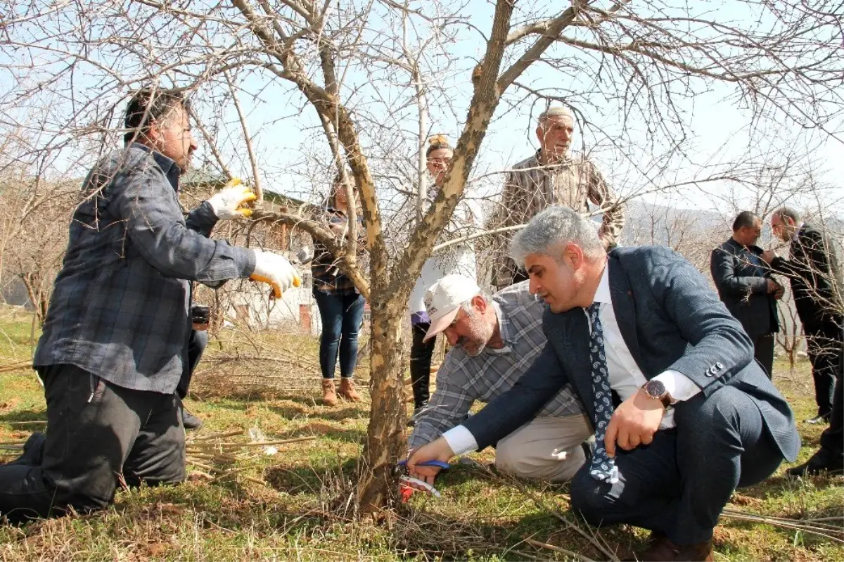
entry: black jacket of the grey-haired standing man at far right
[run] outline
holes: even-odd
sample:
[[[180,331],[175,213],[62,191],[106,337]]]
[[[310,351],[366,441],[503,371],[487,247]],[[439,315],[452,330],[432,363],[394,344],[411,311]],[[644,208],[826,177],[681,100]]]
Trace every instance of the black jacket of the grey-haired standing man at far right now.
[[[838,257],[824,233],[803,223],[788,254],[788,259],[775,257],[771,267],[791,280],[794,305],[803,326],[841,316],[836,305],[836,278],[841,273]]]

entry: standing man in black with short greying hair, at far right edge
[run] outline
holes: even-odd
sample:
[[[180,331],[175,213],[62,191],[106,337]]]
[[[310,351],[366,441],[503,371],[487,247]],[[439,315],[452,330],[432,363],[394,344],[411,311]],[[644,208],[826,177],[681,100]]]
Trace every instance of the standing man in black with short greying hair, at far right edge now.
[[[794,305],[812,363],[814,399],[818,415],[811,424],[826,423],[832,412],[832,391],[836,384],[841,327],[844,316],[838,304],[836,276],[838,263],[830,239],[813,224],[803,222],[800,213],[783,207],[771,216],[771,229],[783,242],[790,242],[788,259],[766,251],[763,258],[777,273],[791,281]]]

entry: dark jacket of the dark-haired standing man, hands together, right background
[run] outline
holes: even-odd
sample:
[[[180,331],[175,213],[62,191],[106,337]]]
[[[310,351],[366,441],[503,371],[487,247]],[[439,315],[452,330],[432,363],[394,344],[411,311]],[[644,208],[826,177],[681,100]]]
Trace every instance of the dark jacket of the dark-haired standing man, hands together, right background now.
[[[759,246],[745,247],[730,238],[712,250],[709,261],[721,302],[741,322],[751,339],[779,332],[776,299],[768,295],[771,269],[762,261],[761,254]]]

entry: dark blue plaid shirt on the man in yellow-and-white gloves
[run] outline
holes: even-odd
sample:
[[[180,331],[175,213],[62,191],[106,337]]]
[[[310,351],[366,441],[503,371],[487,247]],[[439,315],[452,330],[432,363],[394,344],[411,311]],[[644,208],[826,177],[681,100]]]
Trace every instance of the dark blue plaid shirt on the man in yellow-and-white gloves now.
[[[189,281],[216,284],[255,269],[254,251],[206,237],[217,221],[209,203],[185,219],[180,174],[137,143],[89,172],[36,367],[70,364],[125,388],[176,390],[187,364]]]

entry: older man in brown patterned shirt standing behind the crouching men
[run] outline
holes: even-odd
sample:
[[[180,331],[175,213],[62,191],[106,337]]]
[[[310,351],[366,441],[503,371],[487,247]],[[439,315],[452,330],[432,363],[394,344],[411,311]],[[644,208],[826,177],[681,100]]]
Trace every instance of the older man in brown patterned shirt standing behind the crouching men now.
[[[527,224],[551,205],[586,213],[592,203],[603,210],[599,231],[603,246],[609,250],[618,244],[624,209],[598,168],[583,154],[571,154],[574,132],[575,119],[567,108],[557,105],[539,114],[539,149],[507,174],[501,206],[487,224],[489,230]],[[527,279],[527,273],[507,254],[512,235],[510,230],[493,237],[492,282],[498,289]]]

